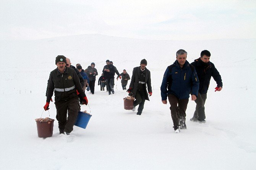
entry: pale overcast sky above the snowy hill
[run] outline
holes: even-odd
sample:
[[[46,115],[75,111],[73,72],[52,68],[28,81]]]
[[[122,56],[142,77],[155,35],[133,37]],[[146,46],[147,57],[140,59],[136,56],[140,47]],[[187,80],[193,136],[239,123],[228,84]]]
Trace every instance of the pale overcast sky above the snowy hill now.
[[[0,39],[256,38],[256,0],[0,0]]]

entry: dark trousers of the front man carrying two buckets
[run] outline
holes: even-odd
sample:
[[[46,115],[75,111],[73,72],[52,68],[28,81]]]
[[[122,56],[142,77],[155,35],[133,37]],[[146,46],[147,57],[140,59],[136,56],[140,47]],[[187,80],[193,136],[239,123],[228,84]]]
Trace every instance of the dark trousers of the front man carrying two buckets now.
[[[64,130],[67,133],[70,133],[73,130],[73,126],[76,122],[78,111],[80,110],[78,97],[75,97],[68,101],[55,102],[55,106],[57,109],[56,119],[58,120],[59,129]]]

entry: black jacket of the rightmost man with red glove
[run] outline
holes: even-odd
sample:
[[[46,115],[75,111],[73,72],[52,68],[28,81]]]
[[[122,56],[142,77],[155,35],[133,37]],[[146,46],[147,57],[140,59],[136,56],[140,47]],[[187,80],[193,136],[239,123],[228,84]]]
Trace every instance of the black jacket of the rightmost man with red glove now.
[[[222,79],[219,71],[215,68],[212,62],[204,63],[201,58],[195,59],[191,63],[196,69],[198,79],[199,79],[199,90],[201,94],[205,94],[208,91],[211,77],[217,83],[217,87],[222,87]]]

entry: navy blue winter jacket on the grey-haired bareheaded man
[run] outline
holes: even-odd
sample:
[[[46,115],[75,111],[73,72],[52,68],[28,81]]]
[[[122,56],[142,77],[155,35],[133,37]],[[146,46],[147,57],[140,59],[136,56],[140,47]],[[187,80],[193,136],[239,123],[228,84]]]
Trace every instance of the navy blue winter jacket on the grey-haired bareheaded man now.
[[[196,69],[188,61],[185,62],[183,68],[177,60],[167,67],[161,85],[162,100],[167,100],[168,94],[173,94],[178,99],[188,99],[190,93],[198,96],[198,89],[199,80]]]

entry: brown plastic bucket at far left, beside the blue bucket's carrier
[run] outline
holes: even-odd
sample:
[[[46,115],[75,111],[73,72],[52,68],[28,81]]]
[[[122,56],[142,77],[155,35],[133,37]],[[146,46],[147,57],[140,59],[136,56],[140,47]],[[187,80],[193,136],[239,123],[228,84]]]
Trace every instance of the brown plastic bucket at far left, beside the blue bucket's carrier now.
[[[39,138],[48,138],[52,136],[54,119],[48,122],[36,121],[37,135]]]

